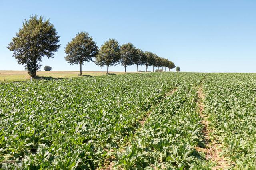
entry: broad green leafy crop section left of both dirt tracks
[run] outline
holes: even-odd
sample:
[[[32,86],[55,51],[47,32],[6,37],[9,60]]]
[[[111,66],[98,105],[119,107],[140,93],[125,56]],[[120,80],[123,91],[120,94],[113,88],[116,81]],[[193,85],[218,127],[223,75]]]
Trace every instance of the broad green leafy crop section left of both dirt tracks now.
[[[127,74],[0,84],[0,159],[30,169],[95,169],[184,79]]]

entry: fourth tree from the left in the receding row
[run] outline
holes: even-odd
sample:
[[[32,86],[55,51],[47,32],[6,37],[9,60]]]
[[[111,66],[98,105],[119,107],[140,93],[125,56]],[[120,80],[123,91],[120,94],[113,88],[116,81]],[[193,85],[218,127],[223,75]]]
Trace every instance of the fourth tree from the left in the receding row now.
[[[126,66],[133,64],[133,58],[136,55],[136,48],[132,43],[125,43],[120,47],[121,51],[121,65],[124,66],[124,72],[126,72]]]

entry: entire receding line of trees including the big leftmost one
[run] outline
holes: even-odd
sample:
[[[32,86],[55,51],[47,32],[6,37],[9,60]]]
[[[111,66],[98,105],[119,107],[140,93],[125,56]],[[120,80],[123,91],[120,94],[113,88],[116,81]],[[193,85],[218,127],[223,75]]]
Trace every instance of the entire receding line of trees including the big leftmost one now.
[[[30,16],[29,20],[23,22],[23,26],[12,38],[8,49],[13,51],[13,57],[19,64],[25,65],[25,70],[32,76],[36,76],[36,71],[41,67],[42,57],[51,58],[54,52],[60,47],[58,44],[60,36],[49,20],[44,20],[42,16]],[[80,65],[80,75],[82,75],[82,65],[84,62],[92,61],[101,67],[121,64],[126,67],[136,65],[137,71],[139,65],[146,65],[146,71],[149,66],[165,67],[173,69],[175,67],[172,61],[161,58],[158,55],[142,51],[134,47],[132,43],[119,45],[115,39],[106,41],[100,49],[96,42],[86,32],[78,32],[76,37],[66,45],[66,61],[70,64]]]

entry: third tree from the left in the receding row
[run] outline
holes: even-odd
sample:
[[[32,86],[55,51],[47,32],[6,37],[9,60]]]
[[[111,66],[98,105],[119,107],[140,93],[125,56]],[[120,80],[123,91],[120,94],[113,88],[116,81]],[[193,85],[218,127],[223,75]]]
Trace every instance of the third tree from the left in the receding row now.
[[[101,67],[106,65],[108,73],[108,67],[117,65],[120,59],[121,55],[118,41],[115,39],[109,39],[100,47],[95,63]]]

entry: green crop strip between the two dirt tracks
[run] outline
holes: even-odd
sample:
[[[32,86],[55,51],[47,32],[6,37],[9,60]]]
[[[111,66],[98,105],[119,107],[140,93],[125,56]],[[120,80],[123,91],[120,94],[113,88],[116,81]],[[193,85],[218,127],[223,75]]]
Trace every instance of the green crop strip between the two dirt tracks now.
[[[195,150],[196,146],[204,146],[197,103],[198,83],[204,74],[190,76],[152,110],[126,146],[117,150],[117,168],[210,169],[213,166],[204,154]]]

